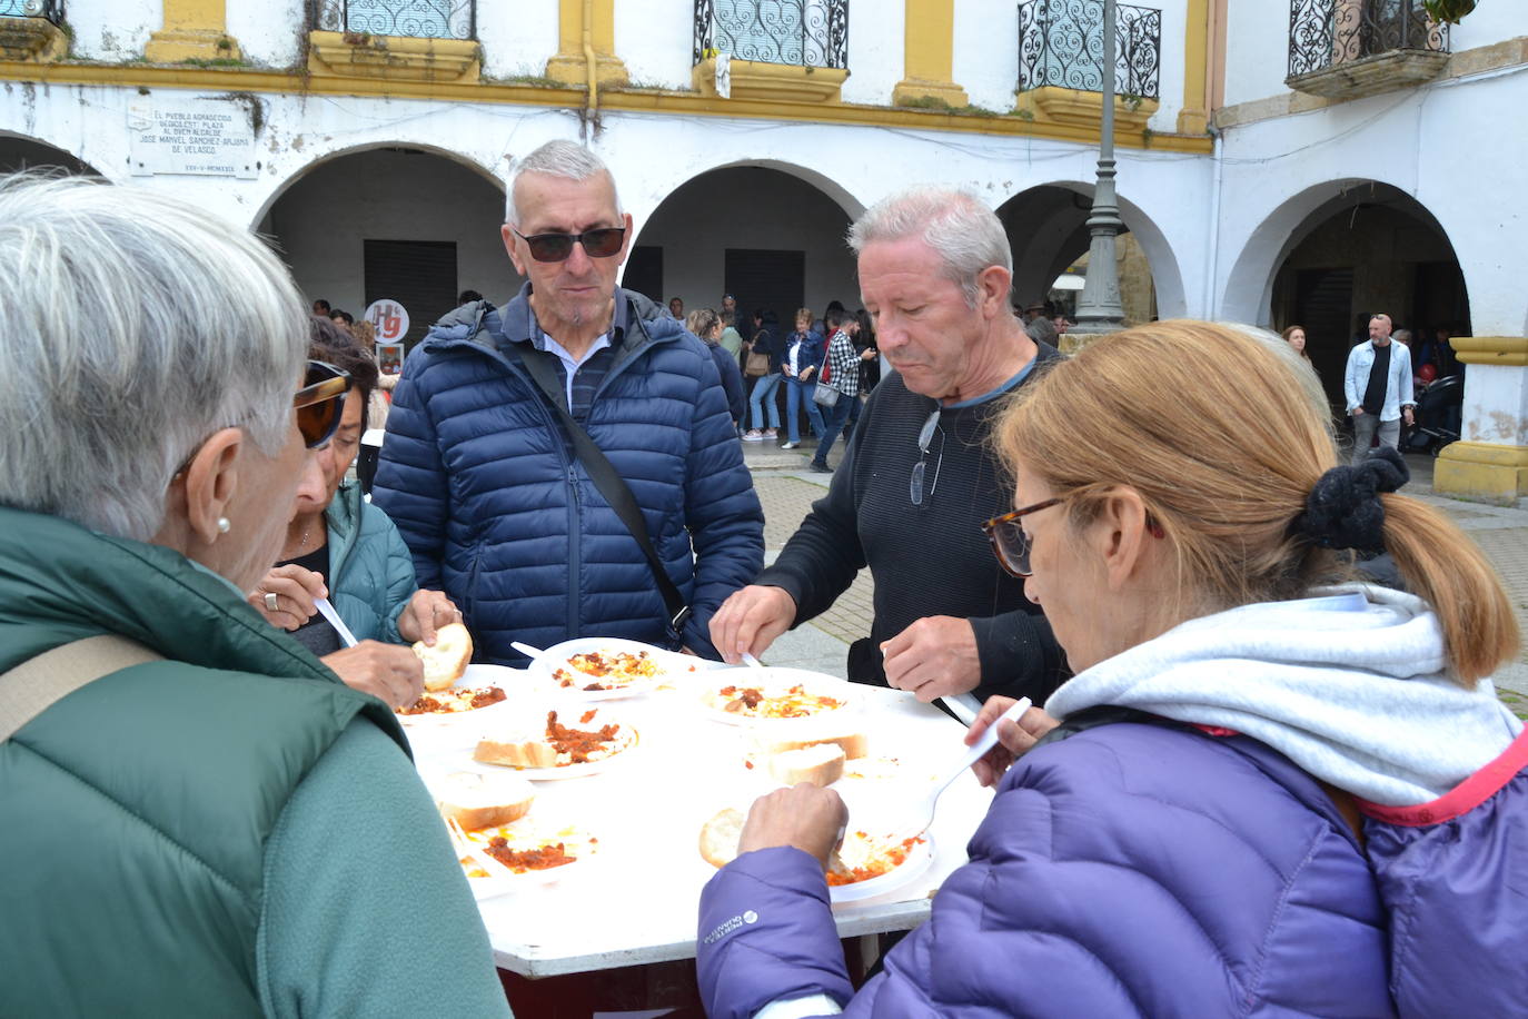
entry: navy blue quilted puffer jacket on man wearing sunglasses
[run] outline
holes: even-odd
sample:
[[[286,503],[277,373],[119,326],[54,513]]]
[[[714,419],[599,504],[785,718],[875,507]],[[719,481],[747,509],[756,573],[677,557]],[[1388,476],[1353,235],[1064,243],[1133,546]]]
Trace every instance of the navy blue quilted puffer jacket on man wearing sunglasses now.
[[[501,310],[457,309],[410,353],[373,498],[414,553],[420,587],[461,608],[480,662],[523,663],[512,640],[545,648],[585,636],[681,637],[715,657],[711,616],[762,567],[764,512],[711,354],[617,289],[616,359],[584,422],[692,608],[678,636],[636,539],[504,353],[538,335],[527,295]]]

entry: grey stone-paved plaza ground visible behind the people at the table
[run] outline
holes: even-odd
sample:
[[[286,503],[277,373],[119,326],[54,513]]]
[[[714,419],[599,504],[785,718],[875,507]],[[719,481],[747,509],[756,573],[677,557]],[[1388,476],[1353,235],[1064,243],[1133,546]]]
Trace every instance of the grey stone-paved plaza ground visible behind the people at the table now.
[[[813,451],[810,438],[799,449],[779,449],[775,442],[743,443],[744,460],[764,503],[766,562],[775,561],[831,480],[807,469]],[[839,443],[828,461],[837,466],[842,455]],[[1432,489],[1433,458],[1413,454],[1406,460],[1412,469],[1406,493],[1436,506],[1479,542],[1507,584],[1519,628],[1528,634],[1528,504],[1502,507],[1436,495]],[[842,677],[848,643],[869,634],[871,591],[869,570],[862,570],[833,608],[775,642],[764,662]],[[1497,687],[1502,700],[1528,717],[1528,648],[1497,674]]]

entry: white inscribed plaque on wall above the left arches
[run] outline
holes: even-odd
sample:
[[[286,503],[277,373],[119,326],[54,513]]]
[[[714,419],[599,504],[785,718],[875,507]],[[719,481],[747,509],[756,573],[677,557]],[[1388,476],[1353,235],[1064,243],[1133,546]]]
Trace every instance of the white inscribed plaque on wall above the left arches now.
[[[134,177],[255,176],[255,130],[244,107],[225,99],[159,99],[127,108]]]

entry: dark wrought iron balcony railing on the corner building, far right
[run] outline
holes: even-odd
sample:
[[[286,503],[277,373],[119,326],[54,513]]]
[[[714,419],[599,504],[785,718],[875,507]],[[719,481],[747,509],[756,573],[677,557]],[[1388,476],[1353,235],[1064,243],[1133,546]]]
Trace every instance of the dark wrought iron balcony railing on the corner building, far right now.
[[[1401,50],[1449,52],[1449,26],[1430,21],[1421,0],[1290,3],[1290,78]]]

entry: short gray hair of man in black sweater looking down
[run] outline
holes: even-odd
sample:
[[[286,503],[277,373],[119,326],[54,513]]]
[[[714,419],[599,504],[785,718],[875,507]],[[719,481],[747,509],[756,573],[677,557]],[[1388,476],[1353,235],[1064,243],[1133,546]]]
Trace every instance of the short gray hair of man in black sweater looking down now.
[[[866,244],[918,237],[944,263],[944,277],[976,307],[981,296],[978,277],[989,266],[1013,273],[1013,249],[1002,222],[970,191],[918,185],[882,199],[850,226],[848,243],[854,255]],[[1004,302],[1007,307],[1007,302]]]

